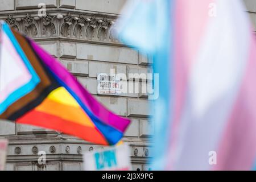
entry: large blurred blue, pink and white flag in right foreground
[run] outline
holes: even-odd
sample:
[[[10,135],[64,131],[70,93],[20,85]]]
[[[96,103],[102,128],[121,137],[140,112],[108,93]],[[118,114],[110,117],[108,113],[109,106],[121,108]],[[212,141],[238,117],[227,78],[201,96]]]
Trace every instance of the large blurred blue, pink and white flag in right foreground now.
[[[153,167],[253,169],[256,44],[242,1],[131,1],[122,14],[121,40],[159,73]]]

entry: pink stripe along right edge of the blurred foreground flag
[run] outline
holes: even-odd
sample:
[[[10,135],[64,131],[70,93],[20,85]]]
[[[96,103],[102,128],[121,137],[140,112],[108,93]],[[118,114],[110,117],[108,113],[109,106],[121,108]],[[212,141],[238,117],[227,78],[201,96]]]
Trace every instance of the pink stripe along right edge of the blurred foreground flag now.
[[[255,50],[255,37],[251,36],[246,74],[218,147],[215,170],[250,170],[253,167],[256,158]]]

